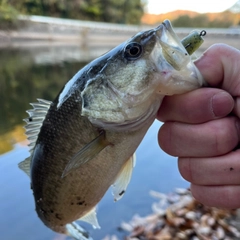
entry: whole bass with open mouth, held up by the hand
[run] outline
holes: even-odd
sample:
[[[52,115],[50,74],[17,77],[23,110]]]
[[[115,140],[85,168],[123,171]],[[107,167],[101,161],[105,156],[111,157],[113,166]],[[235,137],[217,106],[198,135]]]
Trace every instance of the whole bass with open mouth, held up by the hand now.
[[[186,42],[187,43],[187,42]],[[142,31],[79,70],[53,101],[31,103],[28,174],[41,221],[92,239],[78,220],[100,228],[96,206],[112,186],[121,199],[135,151],[163,98],[202,87],[203,77],[169,20]]]

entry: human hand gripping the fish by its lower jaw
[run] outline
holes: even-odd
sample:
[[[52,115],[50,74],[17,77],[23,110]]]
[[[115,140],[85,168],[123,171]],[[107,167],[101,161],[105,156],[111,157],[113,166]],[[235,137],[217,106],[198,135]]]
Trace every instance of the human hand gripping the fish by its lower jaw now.
[[[240,51],[216,44],[195,63],[212,88],[164,98],[159,145],[179,157],[179,171],[198,201],[239,208]]]

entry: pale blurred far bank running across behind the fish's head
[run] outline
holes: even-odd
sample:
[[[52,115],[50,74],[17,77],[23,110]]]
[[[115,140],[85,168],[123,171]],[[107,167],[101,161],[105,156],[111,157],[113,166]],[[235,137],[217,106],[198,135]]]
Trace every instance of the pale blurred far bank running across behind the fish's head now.
[[[207,30],[206,30],[207,31]],[[177,34],[178,31],[176,30]],[[23,32],[4,32],[0,31],[0,49],[2,48],[42,48],[49,46],[75,46],[75,47],[109,47],[112,48],[123,41],[130,38],[133,34],[116,34],[111,33],[96,34],[89,33],[88,36],[81,35],[66,35],[66,34],[37,34],[37,33],[23,33]],[[186,35],[180,33],[179,38]],[[214,35],[208,33],[204,37],[204,43],[201,49],[206,50],[214,43],[225,43],[240,50],[240,35]]]

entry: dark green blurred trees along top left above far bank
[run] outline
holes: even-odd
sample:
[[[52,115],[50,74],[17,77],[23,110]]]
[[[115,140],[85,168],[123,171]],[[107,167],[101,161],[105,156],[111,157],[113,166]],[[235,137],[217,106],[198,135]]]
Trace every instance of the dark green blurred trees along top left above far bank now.
[[[22,14],[139,24],[141,0],[9,0]]]

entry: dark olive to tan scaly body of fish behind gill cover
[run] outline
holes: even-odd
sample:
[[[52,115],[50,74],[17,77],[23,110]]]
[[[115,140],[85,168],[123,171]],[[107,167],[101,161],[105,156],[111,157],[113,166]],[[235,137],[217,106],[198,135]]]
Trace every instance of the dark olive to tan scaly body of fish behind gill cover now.
[[[119,169],[134,152],[132,147],[129,148],[132,146],[129,139],[134,139],[137,147],[146,130],[129,133],[107,131],[106,138],[116,150],[111,151],[109,146],[81,168],[61,178],[71,157],[97,137],[99,129],[81,116],[78,96],[70,97],[60,109],[56,105],[57,100],[51,105],[36,142],[31,178],[38,214],[44,214],[47,225],[59,228],[80,218],[100,201],[109,188],[109,182],[114,182]],[[124,152],[117,151],[123,147]],[[88,188],[83,182],[88,182]]]

